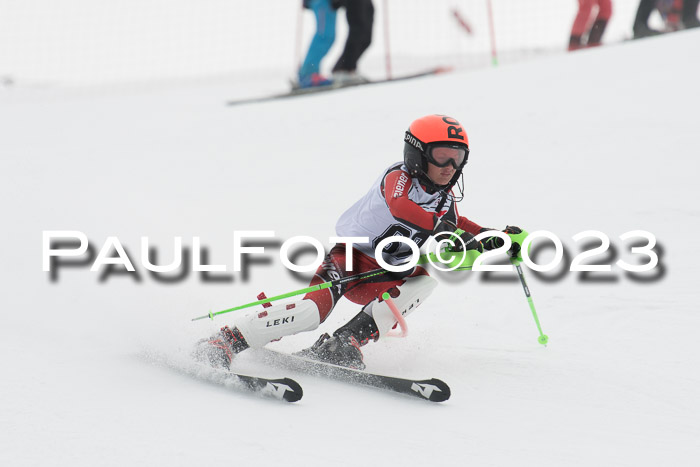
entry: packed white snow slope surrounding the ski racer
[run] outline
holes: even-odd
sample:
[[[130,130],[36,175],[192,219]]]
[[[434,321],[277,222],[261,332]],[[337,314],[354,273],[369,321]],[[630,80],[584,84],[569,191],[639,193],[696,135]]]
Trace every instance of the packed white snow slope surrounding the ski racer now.
[[[223,105],[235,83],[0,90],[0,465],[696,465],[699,40],[677,33],[239,107]],[[591,262],[643,263],[619,236],[646,230],[660,265],[646,281],[614,265],[585,280],[526,269],[546,348],[517,281],[440,274],[409,336],[367,345],[365,360],[370,371],[445,380],[443,404],[242,354],[241,371],[303,385],[302,401],[277,403],[144,357],[184,359],[231,315],[190,318],[303,287],[270,244],[247,277],[232,273],[233,232],[327,244],[343,210],[401,159],[408,124],[429,113],[469,133],[463,215],[551,231],[570,253],[565,266],[586,230],[616,247]],[[90,262],[52,281],[45,230],[84,232],[95,253],[118,237],[140,281],[100,280],[105,267]],[[206,261],[233,279],[158,281],[141,265],[142,236],[159,264],[174,257],[174,237],[191,248],[198,236]],[[343,302],[317,332],[272,345],[297,350],[357,311]]]

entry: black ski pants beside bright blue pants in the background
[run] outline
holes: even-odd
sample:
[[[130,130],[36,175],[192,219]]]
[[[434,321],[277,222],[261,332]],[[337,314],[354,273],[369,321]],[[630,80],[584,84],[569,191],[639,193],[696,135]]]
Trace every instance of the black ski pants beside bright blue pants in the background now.
[[[374,5],[372,0],[346,0],[345,15],[348,19],[348,40],[343,55],[333,67],[333,71],[355,71],[357,61],[372,43]]]

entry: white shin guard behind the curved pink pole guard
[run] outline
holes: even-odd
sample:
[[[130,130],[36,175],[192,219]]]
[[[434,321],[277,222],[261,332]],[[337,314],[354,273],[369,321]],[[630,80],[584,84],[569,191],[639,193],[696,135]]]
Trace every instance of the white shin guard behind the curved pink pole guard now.
[[[404,284],[397,287],[399,296],[392,300],[401,314],[406,316],[423,303],[436,286],[437,281],[430,276],[409,277]],[[394,313],[384,301],[372,302],[370,307],[371,309],[367,309],[365,312],[374,318],[379,330],[379,337],[383,337],[396,324]]]

